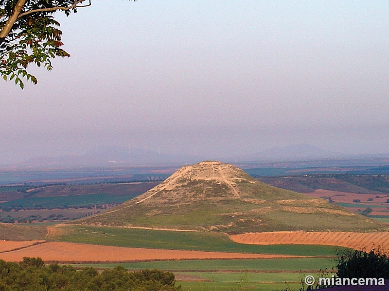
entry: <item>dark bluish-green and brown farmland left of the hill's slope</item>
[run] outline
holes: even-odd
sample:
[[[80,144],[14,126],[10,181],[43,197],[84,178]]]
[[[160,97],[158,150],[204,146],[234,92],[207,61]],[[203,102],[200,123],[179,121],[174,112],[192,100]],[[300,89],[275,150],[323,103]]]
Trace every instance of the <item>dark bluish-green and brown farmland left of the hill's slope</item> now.
[[[0,187],[0,222],[73,220],[109,209],[159,182]]]

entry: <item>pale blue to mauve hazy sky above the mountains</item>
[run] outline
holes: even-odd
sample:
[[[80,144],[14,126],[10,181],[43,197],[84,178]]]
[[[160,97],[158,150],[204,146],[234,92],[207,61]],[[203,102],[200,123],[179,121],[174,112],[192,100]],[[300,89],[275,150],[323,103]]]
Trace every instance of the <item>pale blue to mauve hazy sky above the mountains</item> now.
[[[92,1],[38,84],[0,81],[0,163],[96,146],[389,153],[389,1]]]

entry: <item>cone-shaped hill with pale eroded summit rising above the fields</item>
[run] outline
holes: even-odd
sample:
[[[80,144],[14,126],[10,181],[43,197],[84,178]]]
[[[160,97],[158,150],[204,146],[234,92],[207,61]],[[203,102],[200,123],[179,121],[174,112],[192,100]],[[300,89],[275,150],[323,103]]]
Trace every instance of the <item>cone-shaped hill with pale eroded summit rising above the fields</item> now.
[[[75,223],[227,233],[381,227],[324,199],[266,185],[232,164],[212,161],[184,166],[146,193]]]

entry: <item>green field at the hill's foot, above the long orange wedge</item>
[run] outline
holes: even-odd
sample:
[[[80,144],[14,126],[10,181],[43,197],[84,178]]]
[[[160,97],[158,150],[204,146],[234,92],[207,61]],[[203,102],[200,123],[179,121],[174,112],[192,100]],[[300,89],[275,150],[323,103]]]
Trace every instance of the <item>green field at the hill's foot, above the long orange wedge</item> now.
[[[280,244],[252,245],[232,242],[216,232],[164,231],[102,226],[61,226],[64,234],[55,241],[125,247],[199,250],[236,253],[264,253],[298,256],[334,256],[335,246]]]

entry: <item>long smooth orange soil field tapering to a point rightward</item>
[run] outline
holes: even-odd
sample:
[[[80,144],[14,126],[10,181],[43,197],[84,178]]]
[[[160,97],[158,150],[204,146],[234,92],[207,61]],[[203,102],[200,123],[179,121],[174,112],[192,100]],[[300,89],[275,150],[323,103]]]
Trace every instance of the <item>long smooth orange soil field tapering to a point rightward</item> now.
[[[159,250],[71,242],[46,242],[28,246],[15,251],[0,253],[0,259],[6,261],[21,261],[23,257],[40,257],[44,261],[56,261],[64,263],[123,262],[169,259],[299,258],[299,256]]]

